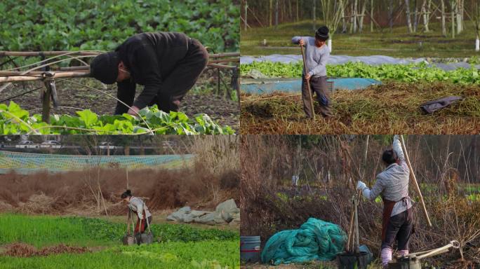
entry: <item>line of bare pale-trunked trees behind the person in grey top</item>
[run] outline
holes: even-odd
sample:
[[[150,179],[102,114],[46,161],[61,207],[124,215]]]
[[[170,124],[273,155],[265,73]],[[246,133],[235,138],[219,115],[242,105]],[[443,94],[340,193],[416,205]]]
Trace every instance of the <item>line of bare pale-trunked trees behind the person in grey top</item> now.
[[[274,27],[285,22],[323,20],[322,9],[328,6],[340,13],[338,32],[381,31],[406,25],[409,33],[429,32],[429,22],[441,22],[444,36],[460,34],[465,21],[478,29],[479,0],[243,0],[242,29]],[[453,18],[453,20],[452,20]],[[420,29],[420,26],[422,28]]]

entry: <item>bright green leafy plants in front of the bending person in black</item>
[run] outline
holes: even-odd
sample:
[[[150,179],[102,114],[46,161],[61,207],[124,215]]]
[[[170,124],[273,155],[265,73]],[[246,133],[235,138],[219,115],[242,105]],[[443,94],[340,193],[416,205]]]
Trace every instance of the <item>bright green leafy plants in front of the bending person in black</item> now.
[[[30,116],[15,102],[0,104],[0,134],[155,134],[155,135],[232,135],[229,126],[220,126],[208,115],[201,113],[188,118],[185,113],[166,113],[156,105],[138,111],[139,116],[102,115],[89,109],[76,112],[78,116],[53,115],[50,124],[41,120],[41,115]]]

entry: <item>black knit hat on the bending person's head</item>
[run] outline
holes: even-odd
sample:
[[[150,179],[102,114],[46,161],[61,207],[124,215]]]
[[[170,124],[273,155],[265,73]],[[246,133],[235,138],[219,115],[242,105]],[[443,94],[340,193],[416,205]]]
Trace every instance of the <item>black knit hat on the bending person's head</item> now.
[[[119,75],[119,55],[112,51],[95,57],[90,64],[90,74],[104,84],[113,84]]]

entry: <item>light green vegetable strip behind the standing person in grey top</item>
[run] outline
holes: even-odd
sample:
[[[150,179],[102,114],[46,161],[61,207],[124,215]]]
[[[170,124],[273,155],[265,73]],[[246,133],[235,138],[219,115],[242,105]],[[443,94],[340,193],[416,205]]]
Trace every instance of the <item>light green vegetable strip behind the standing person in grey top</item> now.
[[[302,62],[253,62],[241,64],[241,76],[256,69],[272,78],[300,78],[302,76]],[[446,81],[462,84],[480,84],[480,72],[472,66],[471,69],[459,68],[453,71],[444,71],[427,64],[380,64],[370,65],[362,62],[348,62],[346,64],[327,65],[327,76],[338,78],[373,78],[379,81],[397,82],[434,82]]]

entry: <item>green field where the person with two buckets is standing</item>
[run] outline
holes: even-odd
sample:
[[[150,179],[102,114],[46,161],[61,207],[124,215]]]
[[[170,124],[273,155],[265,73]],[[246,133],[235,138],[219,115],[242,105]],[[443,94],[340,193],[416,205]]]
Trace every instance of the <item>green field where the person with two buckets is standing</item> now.
[[[0,268],[239,268],[240,262],[239,233],[230,230],[152,224],[156,242],[126,247],[126,225],[100,219],[2,214],[0,227]],[[12,250],[14,242],[86,248],[27,256]]]

